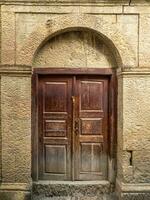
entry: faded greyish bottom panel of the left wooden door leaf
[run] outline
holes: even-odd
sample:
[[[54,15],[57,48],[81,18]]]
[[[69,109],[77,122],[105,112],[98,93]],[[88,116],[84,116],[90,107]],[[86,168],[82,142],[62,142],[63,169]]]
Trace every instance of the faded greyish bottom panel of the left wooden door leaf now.
[[[66,152],[65,145],[45,145],[45,172],[65,174]]]

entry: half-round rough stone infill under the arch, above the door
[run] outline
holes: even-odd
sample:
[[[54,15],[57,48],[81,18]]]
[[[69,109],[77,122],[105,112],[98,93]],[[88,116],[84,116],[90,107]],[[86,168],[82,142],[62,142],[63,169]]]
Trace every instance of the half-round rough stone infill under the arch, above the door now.
[[[57,58],[57,59],[56,59]],[[69,32],[51,39],[37,53],[36,67],[115,67],[109,49],[91,32]]]

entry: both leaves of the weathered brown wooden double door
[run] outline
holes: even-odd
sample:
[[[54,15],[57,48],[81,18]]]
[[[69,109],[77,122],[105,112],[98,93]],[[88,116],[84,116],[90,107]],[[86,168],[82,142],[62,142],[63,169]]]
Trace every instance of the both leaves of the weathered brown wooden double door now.
[[[107,78],[41,75],[38,124],[40,179],[107,179]]]

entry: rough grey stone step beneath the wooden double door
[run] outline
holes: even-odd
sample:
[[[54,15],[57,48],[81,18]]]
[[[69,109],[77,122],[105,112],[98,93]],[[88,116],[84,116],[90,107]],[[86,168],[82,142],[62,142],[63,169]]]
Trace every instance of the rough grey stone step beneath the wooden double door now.
[[[38,181],[32,200],[114,200],[108,181]]]

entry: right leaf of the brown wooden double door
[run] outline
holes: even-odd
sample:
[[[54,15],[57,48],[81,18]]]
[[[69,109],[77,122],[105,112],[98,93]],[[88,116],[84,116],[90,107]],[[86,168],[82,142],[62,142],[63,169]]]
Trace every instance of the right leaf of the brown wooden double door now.
[[[75,179],[107,178],[108,80],[77,77]]]

